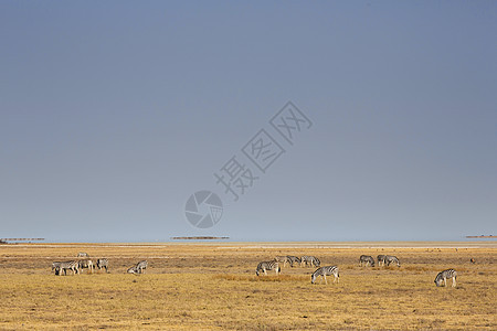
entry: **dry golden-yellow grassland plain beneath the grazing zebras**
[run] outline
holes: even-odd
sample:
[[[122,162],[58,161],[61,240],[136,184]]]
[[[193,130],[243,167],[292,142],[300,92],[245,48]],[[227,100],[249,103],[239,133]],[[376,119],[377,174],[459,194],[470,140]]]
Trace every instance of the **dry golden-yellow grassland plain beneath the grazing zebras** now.
[[[497,330],[497,244],[478,246],[1,245],[0,329]],[[53,260],[75,259],[77,252],[107,257],[110,273],[51,273]],[[402,266],[359,267],[361,254],[396,255]],[[257,263],[276,255],[316,255],[322,265],[339,266],[340,282],[311,285],[314,268],[298,267],[257,278]],[[140,259],[149,261],[147,274],[126,275]],[[446,268],[458,271],[456,288],[435,287]]]

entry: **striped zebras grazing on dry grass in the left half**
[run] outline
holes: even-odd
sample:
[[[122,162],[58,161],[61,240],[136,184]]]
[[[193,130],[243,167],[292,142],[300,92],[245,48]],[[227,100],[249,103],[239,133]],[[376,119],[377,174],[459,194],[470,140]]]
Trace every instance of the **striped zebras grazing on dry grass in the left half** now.
[[[78,260],[52,263],[52,273],[54,273],[55,276],[62,276],[63,274],[64,276],[67,276],[67,271],[70,271],[72,275],[77,275],[81,274],[83,269],[88,269],[88,274],[93,274],[95,271],[95,268],[98,268],[98,270],[105,269],[106,274],[109,273],[107,258],[98,258],[94,264],[93,260],[89,259],[89,255],[87,253],[80,252],[77,254],[77,257],[84,258]],[[134,267],[130,267],[126,273],[135,275],[145,274],[144,270],[147,269],[147,260],[140,260]]]

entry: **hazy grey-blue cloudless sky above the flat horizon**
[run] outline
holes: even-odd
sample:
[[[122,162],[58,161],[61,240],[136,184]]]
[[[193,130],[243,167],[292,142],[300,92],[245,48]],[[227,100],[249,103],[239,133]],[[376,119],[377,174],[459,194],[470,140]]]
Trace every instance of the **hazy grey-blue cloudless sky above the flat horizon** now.
[[[496,235],[496,34],[495,1],[1,1],[0,237]]]

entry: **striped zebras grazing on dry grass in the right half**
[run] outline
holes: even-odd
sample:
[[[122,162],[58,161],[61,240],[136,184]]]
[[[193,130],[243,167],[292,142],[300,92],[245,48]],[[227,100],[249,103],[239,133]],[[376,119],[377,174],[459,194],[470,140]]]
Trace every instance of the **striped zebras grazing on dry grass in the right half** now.
[[[396,265],[398,267],[401,266],[400,260],[396,256],[392,255],[378,255],[378,266],[390,266],[391,264]],[[279,275],[282,271],[282,268],[279,264],[283,263],[283,266],[286,267],[286,264],[289,264],[290,267],[294,266],[295,263],[299,264],[302,266],[310,266],[310,267],[319,267],[310,275],[310,282],[315,284],[316,279],[319,278],[319,284],[325,279],[325,284],[328,284],[326,276],[334,276],[334,282],[340,281],[340,274],[337,266],[325,266],[320,267],[321,261],[319,258],[315,256],[303,256],[303,257],[296,257],[296,256],[276,256],[273,260],[266,260],[261,261],[257,265],[257,268],[255,269],[255,275],[261,276],[262,273],[267,276],[268,270],[275,270],[276,275]],[[359,257],[359,266],[371,266],[374,267],[374,258],[369,255],[361,255]],[[442,286],[442,284],[446,287],[447,286],[447,279],[452,278],[452,287],[456,287],[456,277],[457,273],[454,269],[447,269],[438,273],[435,277],[435,285],[437,287]]]

